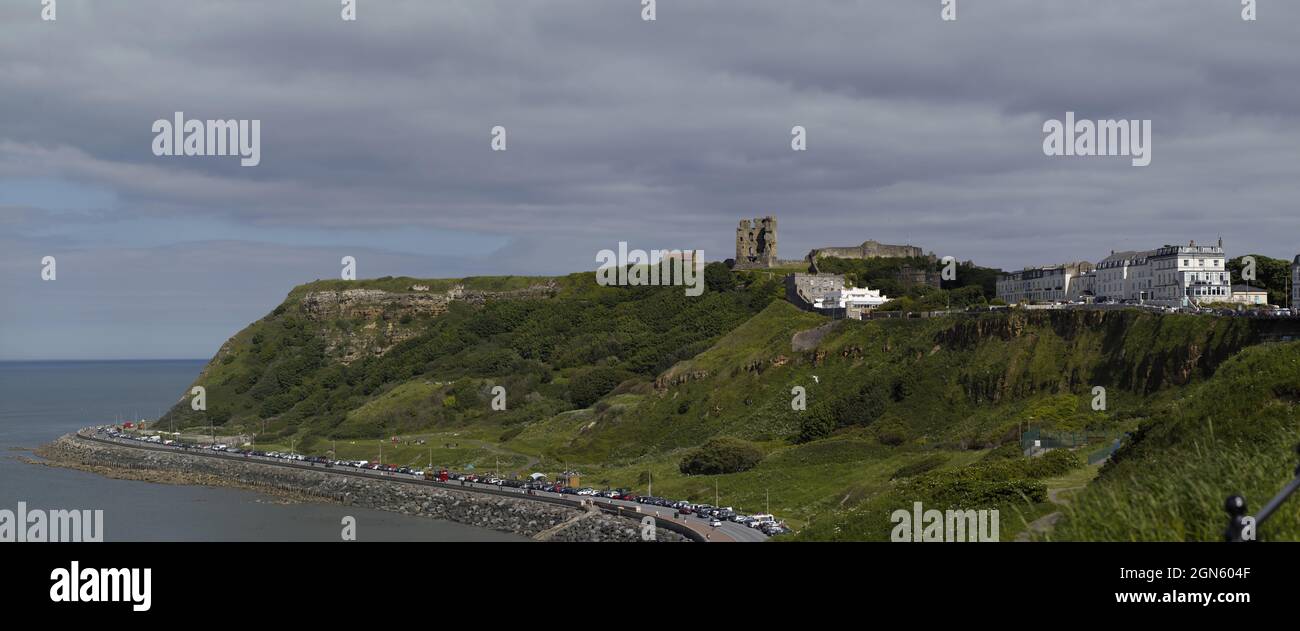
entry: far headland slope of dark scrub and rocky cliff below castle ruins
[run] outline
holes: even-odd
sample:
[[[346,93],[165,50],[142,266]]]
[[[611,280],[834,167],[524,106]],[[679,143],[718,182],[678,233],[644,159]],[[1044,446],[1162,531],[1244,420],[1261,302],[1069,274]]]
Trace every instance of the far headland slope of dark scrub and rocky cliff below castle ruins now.
[[[715,284],[719,267],[706,271]],[[438,316],[385,310],[356,319],[321,317],[303,301],[311,291],[400,294],[412,285],[510,291],[549,278],[316,281],[295,288],[204,369],[195,385],[207,389],[205,416],[186,398],[166,420],[179,427],[211,420],[306,445],[484,423],[499,435],[588,407],[623,381],[647,384],[780,295],[775,280],[723,273],[725,289],[699,298],[672,286],[604,288],[586,273],[550,280],[558,285],[552,299],[451,302]],[[341,341],[372,353],[344,363],[332,351],[344,346]],[[495,385],[508,393],[506,411],[488,405]]]

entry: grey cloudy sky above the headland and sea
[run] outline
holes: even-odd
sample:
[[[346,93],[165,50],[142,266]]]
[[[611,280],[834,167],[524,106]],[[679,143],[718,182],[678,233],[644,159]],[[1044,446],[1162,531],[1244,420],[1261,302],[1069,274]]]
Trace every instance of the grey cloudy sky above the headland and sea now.
[[[0,359],[207,358],[296,284],[874,238],[1018,268],[1300,251],[1300,3],[0,1]],[[1048,157],[1139,118],[1152,164]],[[261,164],[152,124],[261,121]],[[490,151],[490,129],[508,150]],[[790,129],[809,150],[790,151]],[[57,280],[40,280],[55,256]]]

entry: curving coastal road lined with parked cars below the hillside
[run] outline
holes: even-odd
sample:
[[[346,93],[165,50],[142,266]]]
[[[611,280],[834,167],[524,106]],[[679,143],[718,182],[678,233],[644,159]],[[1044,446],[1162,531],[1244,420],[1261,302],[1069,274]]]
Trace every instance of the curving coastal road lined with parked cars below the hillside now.
[[[235,454],[228,454],[228,453],[221,453],[221,451],[211,451],[211,450],[207,450],[207,449],[185,449],[185,448],[176,446],[176,445],[162,445],[162,444],[156,444],[156,442],[143,442],[143,441],[131,440],[131,438],[114,438],[112,436],[107,436],[107,435],[98,433],[98,432],[95,435],[91,435],[91,433],[87,433],[87,432],[82,431],[82,432],[77,432],[77,436],[79,438],[83,438],[83,440],[91,440],[91,441],[98,441],[98,442],[108,442],[108,444],[121,445],[121,446],[126,446],[126,448],[131,448],[131,449],[147,449],[147,450],[153,450],[153,451],[174,451],[174,453],[182,453],[182,454],[188,454],[188,455],[199,455],[199,457],[204,457],[204,458],[221,458],[221,459],[229,459],[229,461],[237,461],[237,462],[257,462],[260,464],[269,464],[269,466],[287,467],[287,468],[306,468],[306,470],[320,471],[322,474],[347,475],[347,476],[354,476],[354,477],[369,477],[369,479],[373,479],[373,480],[389,480],[389,481],[396,481],[396,483],[404,483],[404,484],[417,484],[417,485],[426,485],[426,487],[442,487],[442,488],[448,488],[448,489],[462,489],[462,490],[468,490],[468,492],[477,492],[477,493],[481,493],[481,494],[517,497],[520,500],[541,501],[541,502],[547,502],[547,503],[569,505],[569,506],[572,506],[575,509],[580,509],[585,502],[593,502],[598,507],[604,507],[607,510],[608,509],[614,509],[614,507],[621,507],[621,509],[624,509],[624,514],[628,515],[628,517],[636,517],[636,515],[628,514],[628,513],[634,511],[634,513],[638,513],[640,515],[654,515],[655,518],[662,519],[662,520],[675,522],[675,523],[681,524],[682,527],[686,527],[690,531],[698,533],[705,541],[710,541],[710,543],[766,541],[767,540],[767,536],[763,535],[760,531],[757,531],[754,528],[749,528],[746,526],[742,526],[742,524],[738,524],[738,523],[734,523],[734,522],[723,522],[723,524],[719,526],[719,527],[711,527],[711,526],[708,526],[708,522],[706,519],[701,519],[701,518],[694,517],[694,515],[684,515],[684,517],[681,517],[679,519],[673,519],[673,517],[672,517],[673,510],[672,509],[664,507],[664,506],[646,506],[646,505],[640,505],[637,502],[629,502],[629,501],[623,501],[623,500],[608,500],[608,498],[603,498],[603,497],[580,497],[580,496],[571,496],[571,494],[563,494],[563,493],[547,493],[545,490],[534,490],[532,494],[529,494],[525,489],[512,489],[512,488],[508,488],[508,487],[497,487],[494,484],[468,483],[468,481],[467,483],[460,483],[460,481],[445,481],[443,483],[443,481],[437,481],[437,480],[425,480],[421,476],[407,475],[407,474],[394,474],[394,472],[385,472],[385,471],[356,470],[356,468],[352,468],[352,467],[333,467],[333,466],[332,467],[326,467],[325,464],[318,464],[318,463],[306,462],[306,461],[285,462],[285,461],[278,459],[278,458],[252,455],[252,454],[235,455]]]

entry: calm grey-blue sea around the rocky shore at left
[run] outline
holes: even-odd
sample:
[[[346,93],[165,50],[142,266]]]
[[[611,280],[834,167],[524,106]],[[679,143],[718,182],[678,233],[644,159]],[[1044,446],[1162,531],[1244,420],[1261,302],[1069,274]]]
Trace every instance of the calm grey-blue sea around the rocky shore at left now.
[[[0,509],[103,509],[105,541],[339,541],[352,515],[360,541],[523,541],[452,522],[326,503],[274,503],[261,493],[112,480],[29,464],[35,448],[117,416],[156,418],[202,360],[0,362]]]

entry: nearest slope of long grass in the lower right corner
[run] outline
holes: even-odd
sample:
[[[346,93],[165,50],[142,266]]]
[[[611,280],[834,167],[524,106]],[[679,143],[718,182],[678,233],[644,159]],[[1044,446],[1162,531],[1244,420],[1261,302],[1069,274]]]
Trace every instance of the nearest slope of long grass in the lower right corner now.
[[[1227,496],[1244,496],[1254,511],[1292,477],[1297,401],[1300,343],[1243,350],[1213,379],[1143,419],[1052,537],[1221,539]],[[1300,511],[1279,510],[1260,539],[1300,539]]]

